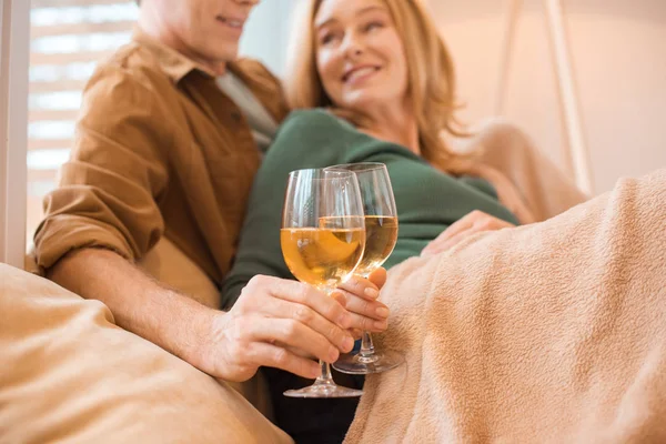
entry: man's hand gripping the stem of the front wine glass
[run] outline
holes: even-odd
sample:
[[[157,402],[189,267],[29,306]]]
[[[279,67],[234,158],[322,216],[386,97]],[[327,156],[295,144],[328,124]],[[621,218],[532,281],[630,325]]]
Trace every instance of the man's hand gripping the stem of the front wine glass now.
[[[225,381],[246,381],[260,366],[314,379],[321,369],[305,356],[335,362],[350,352],[352,323],[336,299],[310,285],[255,276],[231,311],[213,317],[198,366]]]

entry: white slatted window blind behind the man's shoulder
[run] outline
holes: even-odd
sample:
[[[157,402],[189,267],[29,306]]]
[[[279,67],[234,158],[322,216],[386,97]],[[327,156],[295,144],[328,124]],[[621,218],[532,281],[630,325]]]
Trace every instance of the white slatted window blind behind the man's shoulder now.
[[[32,0],[28,98],[28,218],[31,241],[42,199],[69,158],[81,93],[97,62],[131,39],[133,0]]]

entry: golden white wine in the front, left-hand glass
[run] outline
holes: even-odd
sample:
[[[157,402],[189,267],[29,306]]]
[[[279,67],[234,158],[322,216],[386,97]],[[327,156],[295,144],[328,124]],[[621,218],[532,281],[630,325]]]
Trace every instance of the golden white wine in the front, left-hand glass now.
[[[282,254],[292,274],[320,289],[333,289],[346,280],[363,256],[365,230],[282,229]]]

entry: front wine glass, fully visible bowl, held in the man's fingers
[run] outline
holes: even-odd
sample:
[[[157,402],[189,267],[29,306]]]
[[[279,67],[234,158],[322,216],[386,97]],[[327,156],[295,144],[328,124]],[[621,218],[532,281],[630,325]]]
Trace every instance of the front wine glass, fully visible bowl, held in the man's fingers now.
[[[359,181],[353,172],[299,170],[289,175],[282,230],[282,254],[301,282],[330,294],[351,278],[363,256],[365,222]],[[314,384],[284,392],[292,397],[352,397],[360,390],[336,385],[329,363]]]

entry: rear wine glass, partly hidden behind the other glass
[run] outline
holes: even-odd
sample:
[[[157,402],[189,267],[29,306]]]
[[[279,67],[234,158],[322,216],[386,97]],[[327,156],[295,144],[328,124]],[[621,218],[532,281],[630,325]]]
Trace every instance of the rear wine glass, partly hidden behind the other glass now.
[[[397,241],[397,212],[389,171],[385,164],[374,162],[330,167],[326,171],[352,171],[359,179],[365,213],[365,252],[355,274],[367,278],[389,259]],[[341,356],[333,367],[351,374],[381,373],[404,361],[397,352],[376,351],[370,333],[363,332],[361,351]]]

